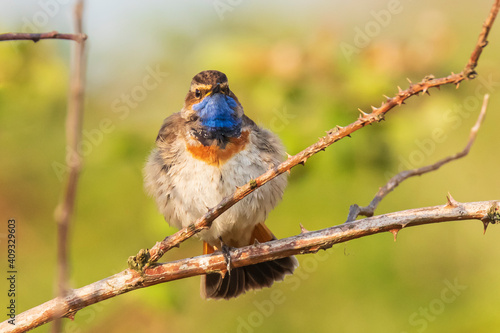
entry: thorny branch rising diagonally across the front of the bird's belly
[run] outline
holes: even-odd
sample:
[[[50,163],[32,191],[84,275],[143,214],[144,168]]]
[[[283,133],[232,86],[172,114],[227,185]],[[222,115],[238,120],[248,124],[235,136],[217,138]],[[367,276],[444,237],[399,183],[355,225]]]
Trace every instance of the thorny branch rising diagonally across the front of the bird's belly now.
[[[493,22],[495,21],[499,8],[500,8],[500,0],[495,0],[495,3],[493,4],[490,13],[488,15],[488,18],[483,24],[483,28],[481,30],[481,33],[479,34],[479,38],[476,45],[474,46],[473,52],[465,68],[460,73],[458,74],[452,73],[446,77],[437,79],[434,78],[434,76],[429,75],[419,83],[415,84],[411,83],[410,81],[410,86],[408,89],[402,90],[400,87],[398,87],[398,94],[396,96],[392,98],[386,97],[386,101],[383,102],[382,105],[378,108],[372,106],[371,113],[365,113],[362,110],[359,110],[361,114],[359,115],[358,120],[356,120],[355,122],[351,123],[346,127],[337,126],[327,131],[327,135],[320,138],[319,141],[313,144],[312,146],[309,146],[308,148],[304,149],[303,151],[294,156],[288,157],[288,159],[285,162],[281,163],[277,167],[268,170],[261,176],[252,179],[247,184],[238,188],[231,196],[224,198],[217,206],[209,209],[208,212],[205,213],[205,215],[203,215],[198,220],[193,222],[193,224],[191,224],[189,227],[179,230],[175,234],[166,237],[161,242],[157,242],[151,248],[151,250],[149,250],[148,254],[141,253],[141,255],[146,255],[146,257],[149,257],[149,260],[147,261],[146,265],[151,265],[157,262],[165,252],[169,251],[173,247],[179,246],[180,243],[194,236],[200,231],[210,228],[212,222],[218,216],[220,216],[222,213],[224,213],[226,210],[232,207],[235,203],[237,203],[238,201],[240,201],[241,199],[243,199],[244,197],[255,191],[257,188],[266,184],[268,181],[281,175],[284,172],[289,171],[297,164],[303,165],[314,154],[317,154],[318,152],[325,150],[325,148],[339,141],[340,139],[343,139],[346,136],[350,136],[350,134],[354,133],[360,128],[363,128],[369,124],[371,125],[374,122],[380,122],[384,120],[385,114],[387,112],[389,112],[392,108],[394,108],[397,105],[404,104],[405,100],[407,100],[411,96],[419,95],[420,93],[428,94],[430,88],[434,87],[439,88],[440,86],[445,84],[455,84],[458,88],[460,82],[462,82],[463,80],[474,79],[477,75],[475,71],[475,68],[477,66],[477,61],[479,59],[479,56],[481,55],[482,49],[488,44],[487,37],[489,31],[491,30]],[[129,263],[131,264],[131,266],[140,269],[144,263],[141,263],[140,261],[143,260],[139,259],[138,257],[139,255],[136,257],[129,258]]]

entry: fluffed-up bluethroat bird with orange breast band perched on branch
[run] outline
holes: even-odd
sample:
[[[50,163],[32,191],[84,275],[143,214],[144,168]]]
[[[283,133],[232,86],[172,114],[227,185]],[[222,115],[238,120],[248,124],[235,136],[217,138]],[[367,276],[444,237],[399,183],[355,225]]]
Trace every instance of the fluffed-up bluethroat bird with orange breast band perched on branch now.
[[[284,155],[278,136],[245,115],[227,76],[206,70],[193,77],[180,112],[164,120],[144,167],[144,186],[165,220],[181,229],[279,165]],[[286,185],[287,174],[277,176],[199,232],[203,253],[275,240],[264,222]],[[202,276],[202,298],[231,299],[270,287],[292,274],[298,261],[290,256],[244,267],[229,264],[227,272]]]

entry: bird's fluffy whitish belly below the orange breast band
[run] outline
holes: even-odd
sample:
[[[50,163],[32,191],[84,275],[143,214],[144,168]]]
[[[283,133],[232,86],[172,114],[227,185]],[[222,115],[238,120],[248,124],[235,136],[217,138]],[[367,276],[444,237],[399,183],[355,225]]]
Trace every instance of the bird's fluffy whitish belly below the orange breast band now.
[[[268,165],[257,158],[260,155],[252,151],[255,149],[250,145],[221,166],[208,165],[185,152],[182,163],[161,173],[150,189],[165,219],[179,229],[187,227],[237,186],[267,171]],[[146,168],[154,167],[151,160]],[[219,237],[230,246],[248,245],[254,226],[264,222],[279,202],[286,183],[286,175],[281,175],[249,194],[218,217],[209,230],[200,232],[200,238],[216,246]]]

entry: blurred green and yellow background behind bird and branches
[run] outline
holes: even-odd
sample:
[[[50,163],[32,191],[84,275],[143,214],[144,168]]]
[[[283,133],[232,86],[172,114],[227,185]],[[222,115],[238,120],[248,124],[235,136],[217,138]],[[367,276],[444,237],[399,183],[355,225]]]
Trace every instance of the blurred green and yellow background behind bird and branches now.
[[[85,164],[71,286],[125,269],[130,255],[175,231],[145,195],[142,167],[196,73],[225,72],[247,115],[295,154],[353,122],[358,107],[368,111],[406,88],[406,78],[459,72],[491,4],[87,1]],[[2,0],[0,29],[71,32],[72,10],[72,1]],[[268,226],[282,238],[299,233],[299,223],[340,224],[349,205],[368,204],[388,177],[462,150],[485,92],[488,114],[470,155],[404,182],[377,213],[444,204],[448,191],[458,201],[500,199],[500,22],[489,40],[478,79],[414,97],[294,168]],[[17,220],[19,312],[54,296],[70,48],[0,43],[0,214]],[[499,237],[496,226],[483,235],[478,221],[411,228],[397,242],[390,233],[365,237],[299,256],[296,274],[270,289],[205,301],[198,277],[174,281],[90,306],[64,332],[492,332],[500,326]],[[192,239],[162,261],[199,253]]]

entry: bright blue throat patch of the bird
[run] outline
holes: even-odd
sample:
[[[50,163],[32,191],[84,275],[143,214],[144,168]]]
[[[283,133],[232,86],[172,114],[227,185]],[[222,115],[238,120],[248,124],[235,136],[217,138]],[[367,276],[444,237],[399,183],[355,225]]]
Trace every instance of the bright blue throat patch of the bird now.
[[[201,125],[208,132],[218,132],[225,136],[239,136],[241,130],[241,119],[236,116],[238,104],[231,97],[215,93],[207,96],[203,101],[192,106],[198,112]]]

